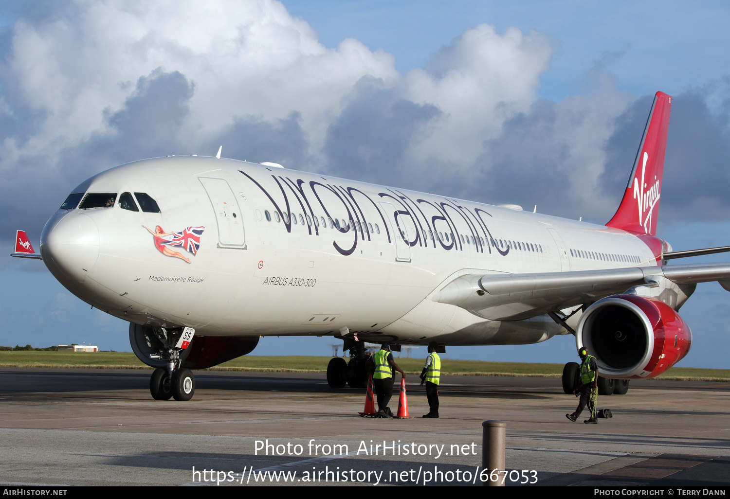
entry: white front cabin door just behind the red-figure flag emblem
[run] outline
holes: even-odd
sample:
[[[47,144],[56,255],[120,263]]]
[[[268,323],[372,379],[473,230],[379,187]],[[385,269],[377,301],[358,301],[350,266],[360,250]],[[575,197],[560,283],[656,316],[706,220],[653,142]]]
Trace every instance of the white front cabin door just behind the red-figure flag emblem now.
[[[218,223],[218,247],[245,250],[246,233],[241,209],[231,186],[224,179],[198,177],[208,194]]]

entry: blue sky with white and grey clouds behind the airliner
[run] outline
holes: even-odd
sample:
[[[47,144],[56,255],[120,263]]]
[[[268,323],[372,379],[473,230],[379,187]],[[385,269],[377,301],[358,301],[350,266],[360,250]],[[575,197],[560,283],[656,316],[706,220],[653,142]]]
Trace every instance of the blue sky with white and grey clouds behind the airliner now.
[[[128,350],[126,323],[7,257],[15,230],[37,245],[83,179],[220,144],[605,223],[662,90],[675,98],[659,235],[675,250],[730,244],[729,18],[719,1],[4,1],[0,344]],[[683,365],[730,368],[729,299],[712,283],[685,305]],[[332,342],[266,339],[255,353],[327,355]],[[553,339],[449,356],[574,352]]]

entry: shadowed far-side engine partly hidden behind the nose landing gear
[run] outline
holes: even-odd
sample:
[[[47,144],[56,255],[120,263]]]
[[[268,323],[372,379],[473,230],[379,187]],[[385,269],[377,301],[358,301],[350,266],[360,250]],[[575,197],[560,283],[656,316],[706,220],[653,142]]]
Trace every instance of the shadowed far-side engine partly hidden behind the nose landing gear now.
[[[134,322],[129,324],[129,343],[137,358],[153,368],[164,368],[163,360],[150,359],[162,348],[152,328]],[[190,346],[181,355],[180,367],[205,369],[253,352],[258,336],[194,336]]]

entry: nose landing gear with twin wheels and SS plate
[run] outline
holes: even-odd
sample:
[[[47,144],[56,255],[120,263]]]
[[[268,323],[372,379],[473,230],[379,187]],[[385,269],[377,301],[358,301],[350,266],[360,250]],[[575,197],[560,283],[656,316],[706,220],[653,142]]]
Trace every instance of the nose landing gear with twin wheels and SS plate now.
[[[171,397],[176,401],[189,401],[195,393],[195,376],[190,369],[180,367],[183,349],[175,347],[182,329],[153,328],[153,331],[159,345],[158,353],[151,354],[150,358],[161,360],[167,365],[156,368],[150,378],[152,398],[155,401],[169,401]]]

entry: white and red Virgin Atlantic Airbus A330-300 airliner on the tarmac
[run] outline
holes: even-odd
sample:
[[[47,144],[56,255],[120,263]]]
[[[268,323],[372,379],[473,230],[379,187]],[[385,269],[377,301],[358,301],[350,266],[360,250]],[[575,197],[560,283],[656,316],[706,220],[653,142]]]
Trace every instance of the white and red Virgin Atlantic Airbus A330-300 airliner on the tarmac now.
[[[155,399],[189,400],[191,369],[261,336],[334,336],[332,387],[366,383],[364,341],[539,343],[574,334],[602,392],[666,371],[692,341],[677,314],[730,264],[671,265],[656,236],[672,98],[656,93],[621,205],[606,225],[215,157],[103,171],[14,256],[42,258],[86,303],[129,321]],[[564,369],[566,392],[577,364]]]

